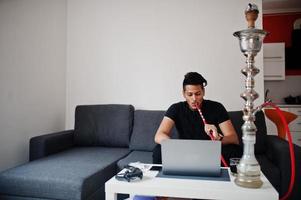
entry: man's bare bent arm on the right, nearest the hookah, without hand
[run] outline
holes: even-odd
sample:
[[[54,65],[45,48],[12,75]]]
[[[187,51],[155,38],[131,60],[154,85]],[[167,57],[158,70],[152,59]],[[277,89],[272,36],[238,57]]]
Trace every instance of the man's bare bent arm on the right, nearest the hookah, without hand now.
[[[222,139],[223,144],[239,144],[237,133],[232,125],[231,120],[220,123],[219,128],[224,135]]]

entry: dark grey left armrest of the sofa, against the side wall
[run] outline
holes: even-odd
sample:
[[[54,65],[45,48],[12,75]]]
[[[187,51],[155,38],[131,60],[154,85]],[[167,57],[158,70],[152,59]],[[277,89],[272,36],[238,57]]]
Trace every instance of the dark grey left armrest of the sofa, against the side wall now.
[[[73,146],[74,130],[40,135],[30,139],[29,160],[33,161]]]

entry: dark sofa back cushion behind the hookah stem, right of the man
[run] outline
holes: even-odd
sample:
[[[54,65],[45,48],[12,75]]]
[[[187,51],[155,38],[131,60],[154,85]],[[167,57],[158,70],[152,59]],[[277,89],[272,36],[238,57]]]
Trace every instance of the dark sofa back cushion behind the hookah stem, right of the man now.
[[[242,142],[242,130],[241,126],[244,121],[242,119],[242,111],[232,111],[229,112],[229,117],[232,121],[232,124],[238,134],[239,143],[243,145]],[[266,140],[267,140],[267,129],[265,124],[265,117],[262,111],[256,114],[255,125],[257,127],[256,132],[256,143],[255,143],[255,154],[263,154],[266,151]]]

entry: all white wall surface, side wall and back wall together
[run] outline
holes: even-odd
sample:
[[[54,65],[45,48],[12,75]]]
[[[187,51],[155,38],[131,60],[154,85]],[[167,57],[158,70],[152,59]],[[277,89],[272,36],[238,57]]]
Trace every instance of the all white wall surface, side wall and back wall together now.
[[[246,27],[247,3],[1,0],[0,171],[27,161],[30,137],[65,119],[73,127],[78,104],[166,109],[188,71],[207,78],[207,98],[241,109],[245,63],[232,34]],[[256,81],[262,102],[263,73]]]

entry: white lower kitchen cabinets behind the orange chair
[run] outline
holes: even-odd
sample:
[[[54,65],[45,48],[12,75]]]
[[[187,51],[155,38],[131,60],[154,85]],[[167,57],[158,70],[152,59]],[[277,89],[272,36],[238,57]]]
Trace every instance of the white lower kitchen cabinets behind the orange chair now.
[[[289,124],[293,143],[301,147],[301,105],[280,105],[281,110],[297,115],[297,119]],[[266,117],[267,132],[269,135],[278,135],[276,125]]]

